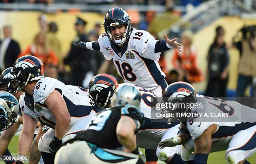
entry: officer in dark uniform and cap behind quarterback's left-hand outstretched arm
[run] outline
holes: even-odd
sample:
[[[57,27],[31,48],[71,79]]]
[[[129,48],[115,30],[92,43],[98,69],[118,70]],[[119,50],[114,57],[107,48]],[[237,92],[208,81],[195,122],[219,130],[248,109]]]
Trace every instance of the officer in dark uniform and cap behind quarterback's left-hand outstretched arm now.
[[[87,24],[82,18],[77,17],[75,23],[75,30],[77,31],[77,37],[74,41],[88,42],[88,37],[85,34],[85,25]],[[91,71],[91,58],[89,54],[90,50],[85,50],[74,45],[71,45],[71,49],[68,56],[64,58],[64,64],[68,64],[71,68],[69,76],[69,84],[74,86],[83,87],[82,81],[84,80],[85,74]]]

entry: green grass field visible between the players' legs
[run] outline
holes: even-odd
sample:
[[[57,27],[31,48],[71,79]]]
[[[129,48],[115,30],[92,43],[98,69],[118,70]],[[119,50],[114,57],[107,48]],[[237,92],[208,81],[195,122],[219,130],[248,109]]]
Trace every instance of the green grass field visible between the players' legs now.
[[[17,135],[13,136],[12,141],[10,142],[10,145],[8,149],[12,154],[17,154],[18,149],[18,137]],[[208,158],[207,164],[226,164],[225,157],[224,157],[225,151],[215,152],[211,153]],[[251,156],[248,159],[251,164],[256,164],[256,154]],[[159,161],[159,164],[162,164],[163,162]],[[4,164],[4,162],[0,159],[0,164]]]

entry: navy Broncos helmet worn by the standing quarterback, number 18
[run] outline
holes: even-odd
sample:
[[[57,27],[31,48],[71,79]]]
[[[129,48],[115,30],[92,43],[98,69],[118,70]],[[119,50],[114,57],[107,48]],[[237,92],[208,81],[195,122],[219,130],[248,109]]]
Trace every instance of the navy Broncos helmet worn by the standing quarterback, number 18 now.
[[[130,17],[128,13],[121,8],[112,8],[108,10],[108,13],[105,15],[103,25],[109,40],[118,45],[125,43],[128,37],[131,35]],[[125,26],[125,33],[121,34],[121,39],[114,39],[113,37],[118,35],[112,35],[110,28],[118,27],[119,25]]]

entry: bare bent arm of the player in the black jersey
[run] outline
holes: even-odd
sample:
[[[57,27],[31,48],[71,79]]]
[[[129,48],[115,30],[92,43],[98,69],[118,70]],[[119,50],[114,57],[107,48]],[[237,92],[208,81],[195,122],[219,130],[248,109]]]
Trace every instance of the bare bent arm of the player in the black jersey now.
[[[121,116],[116,126],[116,135],[120,144],[125,146],[130,151],[136,149],[136,124],[129,116]]]

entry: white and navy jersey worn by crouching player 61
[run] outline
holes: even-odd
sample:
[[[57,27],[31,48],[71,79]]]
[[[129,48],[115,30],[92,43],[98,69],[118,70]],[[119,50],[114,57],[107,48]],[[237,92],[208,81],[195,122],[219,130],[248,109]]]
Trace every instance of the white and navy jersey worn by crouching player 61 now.
[[[72,91],[72,88],[76,90]],[[95,112],[99,111],[97,108],[91,106],[90,98],[76,93],[76,91],[79,91],[78,89],[77,86],[66,86],[55,78],[42,78],[36,83],[33,96],[30,96],[28,93],[23,94],[24,96],[20,96],[20,105],[25,104],[22,110],[28,116],[54,129],[56,119],[44,104],[44,101],[54,90],[61,93],[71,118],[87,116],[92,110]],[[83,91],[81,93],[83,93]]]

